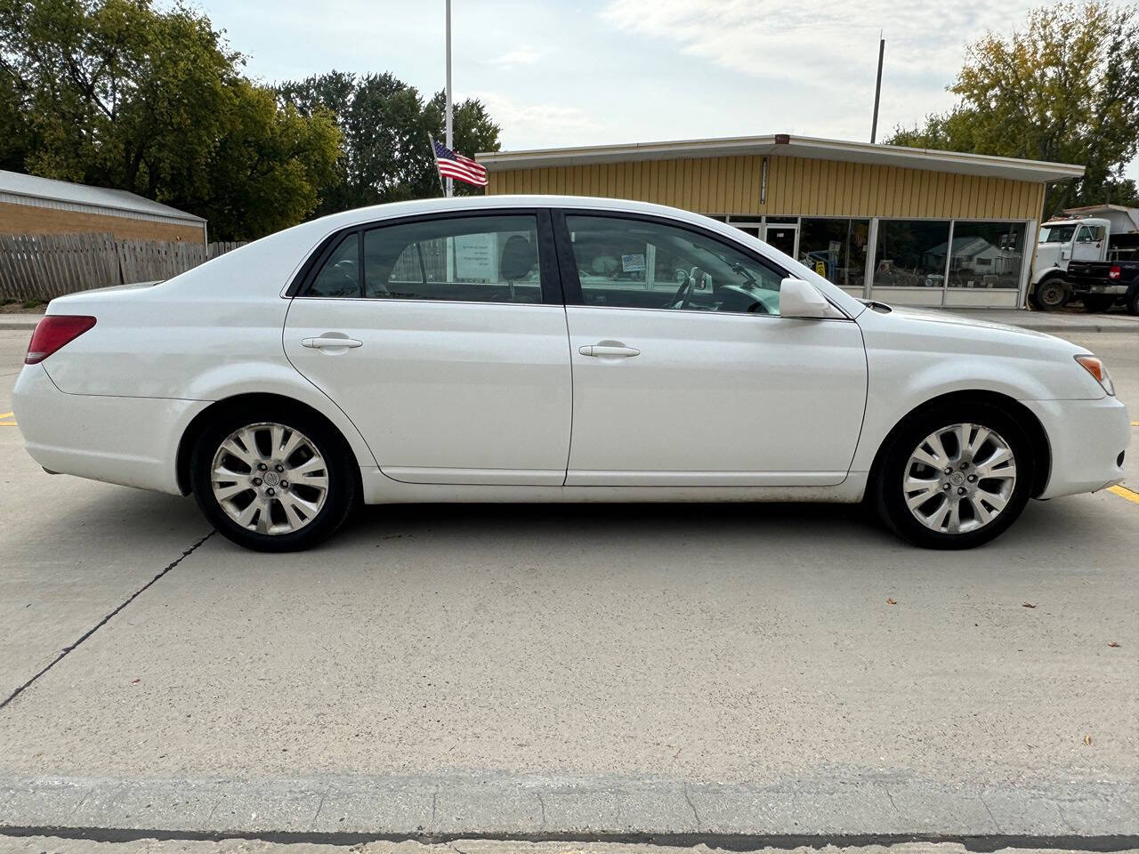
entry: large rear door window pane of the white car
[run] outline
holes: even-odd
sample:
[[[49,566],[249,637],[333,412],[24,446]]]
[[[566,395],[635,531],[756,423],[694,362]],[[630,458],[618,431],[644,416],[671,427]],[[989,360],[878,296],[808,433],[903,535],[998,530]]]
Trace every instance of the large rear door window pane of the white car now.
[[[364,233],[363,291],[375,299],[541,303],[533,216],[457,216]]]

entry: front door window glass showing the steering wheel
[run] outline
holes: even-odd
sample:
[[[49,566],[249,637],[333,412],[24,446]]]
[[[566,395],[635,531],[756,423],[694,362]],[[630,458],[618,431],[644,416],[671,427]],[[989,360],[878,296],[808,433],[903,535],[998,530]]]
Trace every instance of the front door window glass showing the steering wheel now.
[[[784,274],[697,231],[650,220],[566,216],[585,305],[779,313]]]

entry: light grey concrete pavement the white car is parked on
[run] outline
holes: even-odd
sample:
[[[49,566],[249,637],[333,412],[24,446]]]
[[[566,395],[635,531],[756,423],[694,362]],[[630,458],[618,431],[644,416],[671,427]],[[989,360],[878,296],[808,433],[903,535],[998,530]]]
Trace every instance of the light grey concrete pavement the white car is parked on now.
[[[1139,335],[1080,343],[1139,420]],[[759,504],[368,508],[267,556],[0,426],[0,826],[1139,840],[1117,494],[960,553]]]

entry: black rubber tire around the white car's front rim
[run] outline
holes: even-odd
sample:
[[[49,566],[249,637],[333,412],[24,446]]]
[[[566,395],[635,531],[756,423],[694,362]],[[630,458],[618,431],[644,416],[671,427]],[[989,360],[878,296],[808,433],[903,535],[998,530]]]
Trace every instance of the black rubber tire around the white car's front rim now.
[[[1016,478],[1007,503],[991,522],[973,531],[957,534],[934,531],[920,523],[906,503],[907,493],[903,479],[910,467],[912,454],[926,437],[935,430],[957,424],[970,424],[985,427],[998,434],[1013,452],[1016,466]],[[982,445],[981,450],[990,447]],[[951,449],[947,445],[944,449]],[[980,454],[978,454],[980,455]],[[956,473],[954,473],[956,474]],[[915,545],[926,549],[972,549],[982,545],[1003,533],[1021,515],[1032,491],[1035,474],[1035,460],[1032,457],[1032,443],[1027,435],[1005,410],[991,403],[950,403],[918,412],[909,417],[887,440],[883,447],[871,495],[875,508],[886,525],[899,536],[909,540]],[[935,473],[941,479],[942,471]],[[964,484],[969,486],[969,484]],[[982,478],[977,486],[989,486]],[[951,487],[952,492],[957,487]],[[934,501],[934,499],[931,499]],[[966,509],[964,506],[969,503]],[[972,514],[972,501],[961,501],[962,516]],[[934,504],[933,509],[937,506]],[[986,511],[991,508],[984,508]],[[978,517],[974,516],[974,519]]]

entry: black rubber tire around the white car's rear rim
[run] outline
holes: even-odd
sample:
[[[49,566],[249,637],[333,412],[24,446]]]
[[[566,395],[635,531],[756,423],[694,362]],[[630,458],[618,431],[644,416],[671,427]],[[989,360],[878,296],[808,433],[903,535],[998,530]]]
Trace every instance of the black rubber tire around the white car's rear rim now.
[[[302,526],[285,533],[259,533],[243,527],[222,508],[214,495],[212,470],[214,455],[221,444],[233,433],[251,425],[276,424],[289,430],[296,430],[311,443],[323,460],[323,471],[327,477],[327,493],[319,510],[303,522]],[[263,435],[263,429],[262,429]],[[292,457],[293,461],[304,460],[304,449],[301,457]],[[236,459],[236,458],[235,458]],[[232,465],[236,463],[231,460]],[[288,461],[286,461],[288,465]],[[314,474],[319,476],[321,469]],[[270,475],[272,476],[272,475]],[[300,407],[249,404],[226,410],[210,424],[198,436],[190,455],[190,483],[194,498],[206,519],[222,535],[238,545],[255,551],[301,551],[327,540],[344,524],[358,501],[358,475],[355,459],[344,437],[319,416]],[[259,484],[260,488],[267,488]],[[279,490],[293,488],[294,494],[311,498],[318,493],[305,493],[303,483],[297,492],[297,484],[278,484]],[[252,495],[252,492],[251,492]],[[317,499],[319,500],[319,499]],[[316,500],[314,500],[316,501]],[[271,515],[286,517],[280,499],[270,501]],[[287,517],[284,524],[289,524]]]

